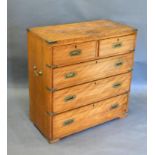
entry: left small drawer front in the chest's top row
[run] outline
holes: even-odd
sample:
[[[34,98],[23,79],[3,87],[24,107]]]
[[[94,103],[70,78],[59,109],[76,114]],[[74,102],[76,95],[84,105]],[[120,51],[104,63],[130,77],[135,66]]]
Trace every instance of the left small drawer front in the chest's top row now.
[[[90,60],[95,57],[97,43],[95,41],[71,44],[53,48],[53,64],[68,65]]]

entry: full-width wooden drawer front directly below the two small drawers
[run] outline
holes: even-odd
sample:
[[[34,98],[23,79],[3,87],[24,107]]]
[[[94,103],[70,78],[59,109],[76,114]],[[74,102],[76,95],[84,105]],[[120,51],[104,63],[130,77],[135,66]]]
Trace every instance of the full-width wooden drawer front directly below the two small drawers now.
[[[108,76],[127,72],[132,68],[133,52],[53,70],[53,86],[61,89]]]

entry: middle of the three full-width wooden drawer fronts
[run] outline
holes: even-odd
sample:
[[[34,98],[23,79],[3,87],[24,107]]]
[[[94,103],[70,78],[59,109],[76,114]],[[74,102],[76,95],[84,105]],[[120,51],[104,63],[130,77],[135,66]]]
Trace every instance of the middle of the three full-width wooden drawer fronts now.
[[[128,92],[130,81],[131,72],[56,91],[53,94],[53,111],[71,110]]]

